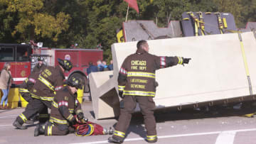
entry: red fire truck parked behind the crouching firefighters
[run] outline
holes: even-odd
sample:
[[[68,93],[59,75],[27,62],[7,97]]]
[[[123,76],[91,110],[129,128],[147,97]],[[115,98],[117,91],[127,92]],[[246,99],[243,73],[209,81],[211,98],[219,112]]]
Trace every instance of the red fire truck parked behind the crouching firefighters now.
[[[21,84],[31,73],[36,65],[38,57],[44,57],[46,65],[58,65],[57,59],[70,60],[73,69],[65,73],[65,78],[77,75],[84,79],[85,92],[87,92],[87,67],[92,62],[96,65],[97,60],[102,60],[103,51],[99,49],[59,49],[40,48],[37,45],[6,44],[0,43],[0,70],[5,62],[11,63],[11,75],[14,84]]]

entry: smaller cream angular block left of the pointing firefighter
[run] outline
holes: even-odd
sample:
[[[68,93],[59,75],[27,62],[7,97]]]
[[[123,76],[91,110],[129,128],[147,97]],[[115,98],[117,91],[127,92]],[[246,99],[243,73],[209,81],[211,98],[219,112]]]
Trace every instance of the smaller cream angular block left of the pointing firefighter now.
[[[89,74],[89,82],[95,118],[118,116],[117,78],[113,77],[113,71],[91,72]]]

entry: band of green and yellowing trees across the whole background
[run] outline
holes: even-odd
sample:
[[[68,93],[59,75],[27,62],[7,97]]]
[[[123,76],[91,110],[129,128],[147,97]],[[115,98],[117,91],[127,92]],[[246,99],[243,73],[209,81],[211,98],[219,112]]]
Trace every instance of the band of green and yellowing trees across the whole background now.
[[[181,21],[184,11],[232,13],[238,27],[256,21],[256,0],[137,0],[139,14],[129,9],[129,20],[154,20],[164,27]],[[111,45],[127,13],[123,0],[0,0],[0,42],[43,42],[47,47],[96,48],[111,60]]]

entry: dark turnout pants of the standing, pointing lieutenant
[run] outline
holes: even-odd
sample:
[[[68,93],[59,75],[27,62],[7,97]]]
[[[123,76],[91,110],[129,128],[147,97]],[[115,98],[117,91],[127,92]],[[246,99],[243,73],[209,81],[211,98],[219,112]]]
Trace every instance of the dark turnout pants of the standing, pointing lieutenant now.
[[[132,113],[136,108],[137,103],[142,111],[144,123],[146,127],[146,135],[148,138],[156,138],[156,120],[154,118],[154,109],[156,107],[153,97],[151,96],[125,96],[124,108],[120,110],[117,126],[114,128],[113,138],[124,140],[125,133],[129,127],[132,118]]]

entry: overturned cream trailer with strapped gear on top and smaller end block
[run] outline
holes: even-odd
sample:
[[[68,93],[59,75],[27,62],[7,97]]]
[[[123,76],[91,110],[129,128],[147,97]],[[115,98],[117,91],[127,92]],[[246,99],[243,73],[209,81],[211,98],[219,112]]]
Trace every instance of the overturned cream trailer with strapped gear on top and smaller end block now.
[[[119,116],[119,68],[142,39],[148,40],[151,54],[192,59],[186,67],[156,71],[156,109],[181,110],[256,99],[255,23],[238,31],[231,13],[184,12],[182,18],[166,28],[157,27],[154,21],[122,24],[117,39],[127,43],[112,45],[114,71],[89,76],[95,118]]]

